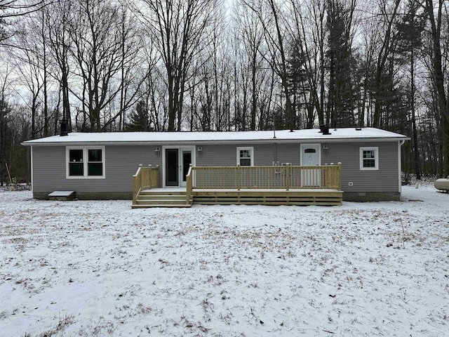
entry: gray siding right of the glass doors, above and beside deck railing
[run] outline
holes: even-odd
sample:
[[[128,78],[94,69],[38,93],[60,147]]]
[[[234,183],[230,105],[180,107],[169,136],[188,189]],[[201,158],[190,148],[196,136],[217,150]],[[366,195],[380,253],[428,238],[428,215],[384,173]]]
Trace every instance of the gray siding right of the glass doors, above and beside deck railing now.
[[[314,143],[315,144],[315,143]],[[342,163],[342,190],[345,192],[398,192],[398,143],[326,143],[321,147],[321,164]],[[235,166],[237,147],[254,147],[255,166],[271,166],[273,161],[301,164],[301,144],[202,145],[196,166]],[[360,170],[360,147],[379,148],[379,170]],[[349,186],[349,182],[353,185]]]

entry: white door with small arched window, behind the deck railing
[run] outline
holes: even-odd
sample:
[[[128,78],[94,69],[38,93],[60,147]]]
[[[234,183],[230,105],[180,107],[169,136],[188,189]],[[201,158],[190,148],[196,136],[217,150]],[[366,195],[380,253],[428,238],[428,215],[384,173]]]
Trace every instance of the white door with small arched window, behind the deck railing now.
[[[301,145],[301,166],[317,166],[321,164],[321,153],[319,144]],[[301,185],[303,187],[320,187],[321,170],[303,169],[301,170]]]

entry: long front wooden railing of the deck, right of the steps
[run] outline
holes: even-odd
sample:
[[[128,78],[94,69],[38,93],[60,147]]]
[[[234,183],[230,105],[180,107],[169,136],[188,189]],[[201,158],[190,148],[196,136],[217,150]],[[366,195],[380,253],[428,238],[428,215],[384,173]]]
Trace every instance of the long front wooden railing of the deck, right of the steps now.
[[[341,190],[341,164],[323,166],[195,166],[191,168],[191,171],[189,179],[192,189]]]

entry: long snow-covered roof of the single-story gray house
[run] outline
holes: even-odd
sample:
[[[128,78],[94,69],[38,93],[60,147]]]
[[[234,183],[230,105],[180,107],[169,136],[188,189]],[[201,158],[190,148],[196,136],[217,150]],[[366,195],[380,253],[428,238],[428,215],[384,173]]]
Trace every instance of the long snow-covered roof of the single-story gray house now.
[[[276,136],[276,138],[274,138]],[[107,132],[69,133],[68,136],[51,136],[27,140],[22,145],[86,145],[86,144],[199,144],[199,143],[297,143],[302,142],[347,142],[348,140],[391,141],[410,138],[379,128],[338,128],[330,129],[323,135],[319,129],[278,130],[278,131],[216,131],[216,132]]]

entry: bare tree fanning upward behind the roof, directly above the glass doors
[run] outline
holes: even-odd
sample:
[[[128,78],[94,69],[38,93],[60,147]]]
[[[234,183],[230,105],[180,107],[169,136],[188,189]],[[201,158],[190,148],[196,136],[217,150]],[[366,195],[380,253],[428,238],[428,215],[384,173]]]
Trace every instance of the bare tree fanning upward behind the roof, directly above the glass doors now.
[[[194,60],[210,43],[206,28],[217,4],[209,0],[142,0],[142,3],[149,9],[148,15],[142,13],[142,18],[153,33],[165,69],[168,130],[180,130],[187,79]]]

